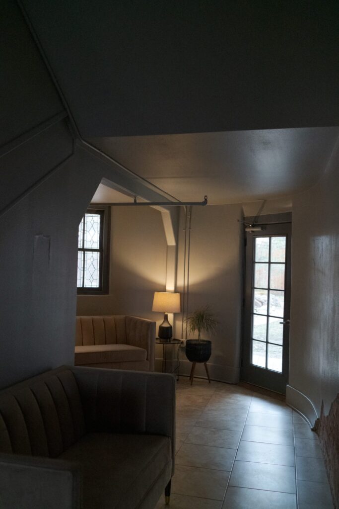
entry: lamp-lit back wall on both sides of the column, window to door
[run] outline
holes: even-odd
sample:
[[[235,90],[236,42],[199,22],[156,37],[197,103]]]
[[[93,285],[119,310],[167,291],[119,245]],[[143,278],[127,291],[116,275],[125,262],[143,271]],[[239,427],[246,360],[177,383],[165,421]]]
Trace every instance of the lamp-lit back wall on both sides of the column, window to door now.
[[[237,382],[240,356],[242,234],[237,219],[241,205],[195,207],[192,215],[189,310],[209,304],[220,322],[211,337],[210,375]],[[176,214],[173,215],[176,230]],[[184,211],[180,208],[176,291],[183,284]],[[153,292],[165,291],[167,243],[161,213],[148,207],[113,207],[111,221],[110,293],[78,296],[77,315],[132,314],[157,321],[152,313]],[[175,264],[173,264],[175,267]],[[175,279],[175,278],[174,278]],[[171,318],[172,320],[172,318]],[[181,315],[173,319],[174,336],[181,337]],[[168,358],[176,354],[168,349]],[[156,369],[161,370],[162,348],[157,347]],[[180,373],[189,374],[191,363],[180,353]],[[173,365],[174,367],[174,365]],[[205,376],[201,366],[197,374]]]

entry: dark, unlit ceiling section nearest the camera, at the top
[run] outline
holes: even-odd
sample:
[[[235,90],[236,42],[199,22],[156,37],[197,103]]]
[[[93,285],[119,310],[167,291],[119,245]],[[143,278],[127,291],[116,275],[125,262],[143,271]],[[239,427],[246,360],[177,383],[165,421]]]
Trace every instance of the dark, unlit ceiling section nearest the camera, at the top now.
[[[336,0],[21,0],[82,137],[339,125]]]

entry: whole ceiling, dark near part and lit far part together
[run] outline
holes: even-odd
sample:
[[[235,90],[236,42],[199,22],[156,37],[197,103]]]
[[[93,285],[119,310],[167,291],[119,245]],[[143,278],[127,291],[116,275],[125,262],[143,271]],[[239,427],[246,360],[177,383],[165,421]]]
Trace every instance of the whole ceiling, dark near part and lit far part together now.
[[[278,197],[322,175],[337,2],[21,1],[81,136],[178,199]]]

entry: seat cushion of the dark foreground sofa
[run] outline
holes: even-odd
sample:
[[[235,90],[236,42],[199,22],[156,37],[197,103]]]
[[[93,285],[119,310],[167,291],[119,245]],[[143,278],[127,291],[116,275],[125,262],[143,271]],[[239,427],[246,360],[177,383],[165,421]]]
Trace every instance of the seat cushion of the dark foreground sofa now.
[[[59,458],[81,464],[83,509],[135,509],[172,468],[171,441],[159,435],[88,433]]]

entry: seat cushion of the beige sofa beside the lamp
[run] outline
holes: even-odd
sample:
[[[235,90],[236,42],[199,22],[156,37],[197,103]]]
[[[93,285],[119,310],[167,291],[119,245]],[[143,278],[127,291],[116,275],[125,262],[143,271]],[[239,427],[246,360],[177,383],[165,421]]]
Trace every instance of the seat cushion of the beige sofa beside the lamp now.
[[[107,362],[135,362],[146,360],[147,351],[132,345],[86,345],[75,347],[75,363],[100,364]]]

